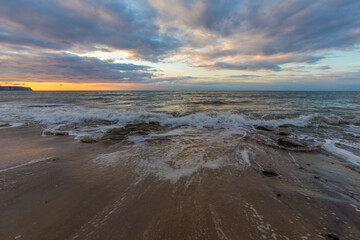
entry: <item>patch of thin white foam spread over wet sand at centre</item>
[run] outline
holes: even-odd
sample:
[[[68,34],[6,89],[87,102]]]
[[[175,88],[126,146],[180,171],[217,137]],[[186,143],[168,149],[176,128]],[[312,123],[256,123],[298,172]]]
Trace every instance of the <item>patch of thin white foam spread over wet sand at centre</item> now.
[[[176,139],[163,145],[135,145],[128,146],[126,150],[113,153],[100,154],[94,162],[105,167],[115,167],[124,162],[135,164],[135,169],[140,175],[155,175],[160,179],[176,183],[183,176],[190,176],[201,169],[219,169],[226,166],[233,166],[236,169],[244,170],[250,166],[248,150],[235,150],[235,146],[227,146],[234,151],[224,151],[218,154],[221,146],[216,148],[212,145],[204,145],[203,140],[189,146],[187,141],[182,142]],[[156,144],[156,143],[155,143]]]

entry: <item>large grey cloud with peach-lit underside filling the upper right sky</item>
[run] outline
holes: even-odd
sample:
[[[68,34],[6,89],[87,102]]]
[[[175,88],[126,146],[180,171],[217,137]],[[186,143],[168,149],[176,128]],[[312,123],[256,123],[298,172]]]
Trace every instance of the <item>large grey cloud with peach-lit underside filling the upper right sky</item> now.
[[[164,19],[162,24],[178,27],[185,44],[184,58],[197,61],[198,66],[278,71],[279,65],[292,61],[264,65],[263,59],[273,55],[316,58],[321,51],[352,49],[360,42],[360,2],[356,0],[150,3]],[[246,63],[247,58],[257,56],[262,58],[254,61],[259,67]],[[316,61],[304,58],[303,62]]]

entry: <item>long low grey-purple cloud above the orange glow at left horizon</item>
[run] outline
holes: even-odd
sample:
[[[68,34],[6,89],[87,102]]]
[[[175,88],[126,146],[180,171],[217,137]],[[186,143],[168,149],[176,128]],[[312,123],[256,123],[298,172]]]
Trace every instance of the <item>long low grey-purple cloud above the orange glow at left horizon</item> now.
[[[38,56],[8,55],[0,59],[0,71],[3,74],[49,75],[73,82],[144,82],[151,79],[155,72],[153,68],[144,65],[46,53]]]

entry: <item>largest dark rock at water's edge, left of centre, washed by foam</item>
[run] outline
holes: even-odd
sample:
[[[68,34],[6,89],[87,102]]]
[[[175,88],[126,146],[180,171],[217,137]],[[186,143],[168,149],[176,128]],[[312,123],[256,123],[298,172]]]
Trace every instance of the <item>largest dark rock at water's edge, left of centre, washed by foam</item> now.
[[[124,127],[113,128],[107,131],[102,140],[124,140],[128,135],[148,135],[151,132],[159,131],[161,129],[159,122],[142,122],[127,124]]]

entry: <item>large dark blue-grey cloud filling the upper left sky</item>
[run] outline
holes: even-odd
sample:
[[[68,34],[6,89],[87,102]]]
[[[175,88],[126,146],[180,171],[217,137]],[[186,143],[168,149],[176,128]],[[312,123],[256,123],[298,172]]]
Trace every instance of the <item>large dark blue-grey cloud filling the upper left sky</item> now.
[[[145,1],[0,0],[0,42],[69,49],[106,45],[157,60],[179,46]]]

